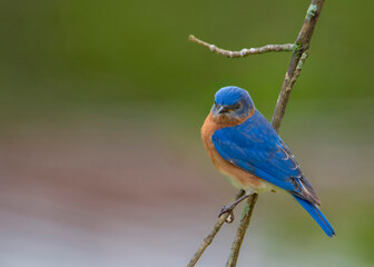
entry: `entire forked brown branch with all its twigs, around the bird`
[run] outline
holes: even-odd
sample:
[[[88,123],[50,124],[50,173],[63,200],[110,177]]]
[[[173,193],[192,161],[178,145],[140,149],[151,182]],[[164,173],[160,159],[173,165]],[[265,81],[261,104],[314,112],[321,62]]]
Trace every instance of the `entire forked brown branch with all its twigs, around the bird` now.
[[[278,97],[278,100],[276,102],[276,107],[275,107],[275,110],[274,110],[273,118],[272,118],[272,126],[276,131],[278,131],[279,128],[280,128],[280,123],[282,123],[282,120],[283,120],[284,115],[285,115],[285,110],[286,110],[286,107],[287,107],[287,103],[288,103],[291,92],[293,90],[293,87],[294,87],[297,78],[301,75],[303,65],[304,65],[304,62],[305,62],[305,60],[308,56],[311,39],[312,39],[313,32],[314,32],[314,28],[315,28],[315,26],[318,21],[323,4],[324,4],[324,0],[312,0],[312,3],[311,3],[311,6],[307,10],[302,30],[299,31],[299,33],[297,36],[295,44],[292,44],[291,50],[293,51],[293,55],[292,55],[292,58],[291,58],[288,70],[286,72],[285,79],[284,79],[282,88],[280,88],[279,97]],[[207,42],[204,42],[204,41],[195,38],[194,36],[190,36],[189,39],[194,42],[197,42],[199,44],[208,47],[213,52],[222,53],[222,55],[230,57],[230,58],[245,57],[245,56],[250,55],[250,53],[260,53],[259,52],[260,48],[258,48],[258,52],[254,52],[255,50],[252,50],[253,52],[249,52],[250,49],[248,49],[248,50],[246,50],[246,52],[248,52],[247,55],[245,55],[245,52],[243,52],[243,55],[242,55],[240,51],[239,52],[233,52],[233,51],[228,51],[228,50],[217,48],[213,44],[209,44]],[[288,46],[288,44],[278,44],[278,46]],[[265,46],[265,47],[268,47],[268,46]],[[285,50],[266,50],[266,51],[289,51],[289,50],[285,49]],[[243,192],[243,190],[240,190],[239,192]],[[230,254],[229,254],[226,266],[230,266],[230,267],[236,266],[237,258],[238,258],[239,251],[240,251],[240,246],[242,246],[244,236],[247,231],[247,228],[249,226],[252,214],[253,214],[253,210],[255,208],[256,201],[257,201],[257,195],[254,196],[253,198],[247,199],[247,201],[246,201],[246,206],[244,207],[243,215],[242,215],[240,225],[238,227],[236,237],[234,239],[232,250],[230,250]],[[223,220],[224,216],[227,219],[228,215],[226,215],[226,214],[224,214],[219,218],[219,220],[216,222],[216,225],[214,227],[214,230],[210,231],[210,234],[214,233],[213,237],[211,238],[209,237],[210,234],[206,237],[206,239],[208,240],[208,244],[205,247],[203,246],[204,243],[201,244],[199,250],[195,254],[195,256],[190,260],[188,267],[195,266],[195,264],[197,263],[199,257],[203,255],[205,248],[213,241],[213,238],[219,231],[222,225],[225,221],[225,220]],[[216,226],[219,221],[223,221],[223,222],[217,228]],[[206,239],[204,239],[204,240],[206,240]],[[201,249],[201,247],[204,247],[204,248]]]

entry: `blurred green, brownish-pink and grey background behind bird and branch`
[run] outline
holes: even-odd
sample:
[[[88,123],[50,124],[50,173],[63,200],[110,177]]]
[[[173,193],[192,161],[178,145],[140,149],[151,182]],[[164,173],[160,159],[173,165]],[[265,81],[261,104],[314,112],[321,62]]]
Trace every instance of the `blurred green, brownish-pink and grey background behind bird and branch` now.
[[[270,119],[308,1],[0,2],[1,266],[185,266],[235,189],[199,128],[223,86]],[[282,126],[337,231],[259,197],[238,266],[373,266],[371,1],[326,1]],[[237,211],[238,212],[238,211]],[[237,224],[237,221],[236,221]],[[236,224],[200,266],[223,266]]]

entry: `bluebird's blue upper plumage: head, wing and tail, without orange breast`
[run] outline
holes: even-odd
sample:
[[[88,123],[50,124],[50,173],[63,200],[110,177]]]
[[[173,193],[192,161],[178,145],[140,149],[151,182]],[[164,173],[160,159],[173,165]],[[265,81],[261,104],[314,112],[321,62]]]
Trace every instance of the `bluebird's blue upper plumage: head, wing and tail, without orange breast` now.
[[[237,87],[226,87],[216,93],[215,100],[213,115],[222,116],[219,110],[230,107],[225,109],[223,119],[247,118],[213,134],[211,142],[220,157],[288,191],[328,236],[335,235],[317,208],[321,206],[319,199],[294,155],[266,118],[255,109],[249,93]]]

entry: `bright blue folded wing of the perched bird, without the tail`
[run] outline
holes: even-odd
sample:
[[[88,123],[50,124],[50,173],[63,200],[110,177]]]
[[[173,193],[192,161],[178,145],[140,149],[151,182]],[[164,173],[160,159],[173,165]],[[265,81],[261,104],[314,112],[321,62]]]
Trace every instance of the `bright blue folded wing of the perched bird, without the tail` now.
[[[211,141],[225,160],[303,199],[321,205],[288,147],[257,110],[243,123],[215,131]]]

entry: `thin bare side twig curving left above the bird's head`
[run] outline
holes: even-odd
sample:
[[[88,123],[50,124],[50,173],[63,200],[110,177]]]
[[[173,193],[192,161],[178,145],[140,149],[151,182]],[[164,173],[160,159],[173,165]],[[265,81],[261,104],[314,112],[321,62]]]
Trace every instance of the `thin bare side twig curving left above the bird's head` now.
[[[285,44],[266,44],[259,48],[243,48],[240,51],[230,51],[226,49],[222,49],[216,47],[215,44],[210,44],[205,42],[195,36],[189,36],[188,38],[191,42],[196,42],[201,44],[203,47],[209,48],[211,52],[220,53],[226,56],[227,58],[244,58],[248,55],[254,53],[264,53],[264,52],[283,52],[283,51],[293,51],[296,46],[294,43],[285,43]]]

